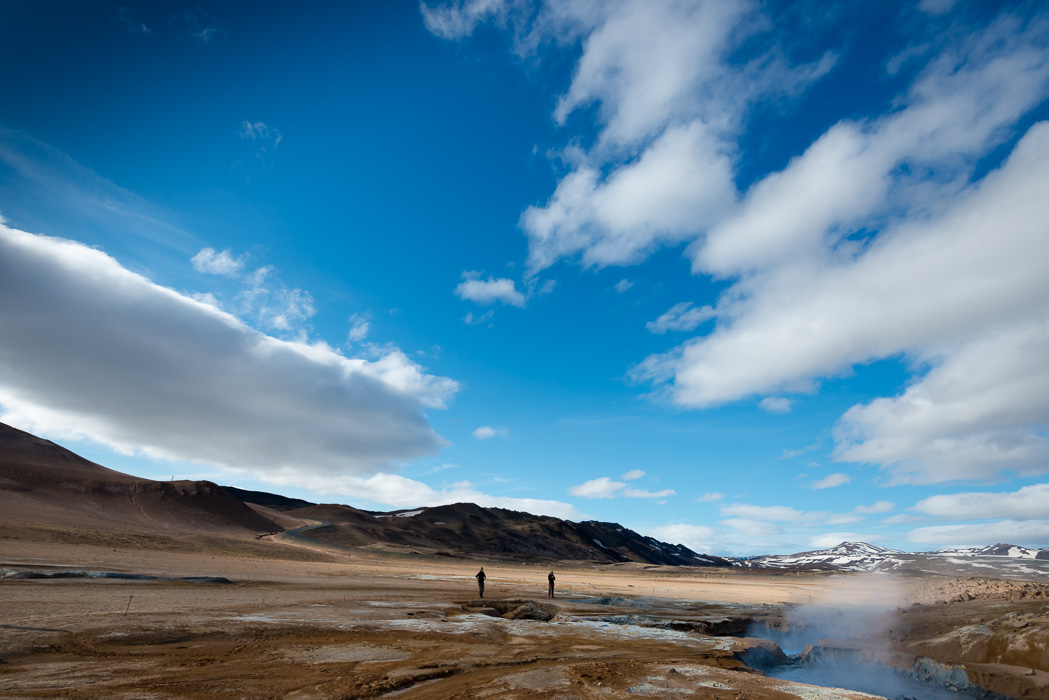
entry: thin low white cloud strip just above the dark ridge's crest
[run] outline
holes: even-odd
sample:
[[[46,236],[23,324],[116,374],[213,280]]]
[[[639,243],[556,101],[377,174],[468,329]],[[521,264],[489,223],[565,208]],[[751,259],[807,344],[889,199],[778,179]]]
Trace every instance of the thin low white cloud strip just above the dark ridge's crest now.
[[[423,482],[391,473],[378,473],[367,478],[343,475],[335,479],[285,473],[273,481],[277,484],[302,486],[318,493],[342,493],[357,502],[368,501],[392,509],[473,503],[483,508],[506,508],[565,519],[582,518],[578,510],[560,501],[491,495],[465,481],[436,489]]]

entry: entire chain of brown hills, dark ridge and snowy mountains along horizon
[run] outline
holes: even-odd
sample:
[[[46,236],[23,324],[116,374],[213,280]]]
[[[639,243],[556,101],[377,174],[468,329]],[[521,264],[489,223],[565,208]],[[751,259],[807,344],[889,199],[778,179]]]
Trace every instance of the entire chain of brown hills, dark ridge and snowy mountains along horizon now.
[[[998,544],[908,554],[845,542],[830,549],[741,559],[700,554],[616,523],[574,523],[469,503],[377,512],[211,482],[156,482],[107,469],[0,423],[0,527],[244,537],[281,532],[307,521],[321,525],[298,536],[339,547],[447,557],[829,571],[905,570],[916,561],[985,567],[994,560],[1028,566],[1047,560],[1049,573],[1049,548]]]

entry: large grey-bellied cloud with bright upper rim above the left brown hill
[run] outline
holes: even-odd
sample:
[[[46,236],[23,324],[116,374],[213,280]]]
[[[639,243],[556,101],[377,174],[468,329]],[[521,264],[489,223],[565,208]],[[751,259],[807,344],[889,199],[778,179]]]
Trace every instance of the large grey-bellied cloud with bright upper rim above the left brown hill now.
[[[255,331],[87,246],[0,226],[5,422],[274,481],[364,478],[435,452],[457,384],[403,353]]]

